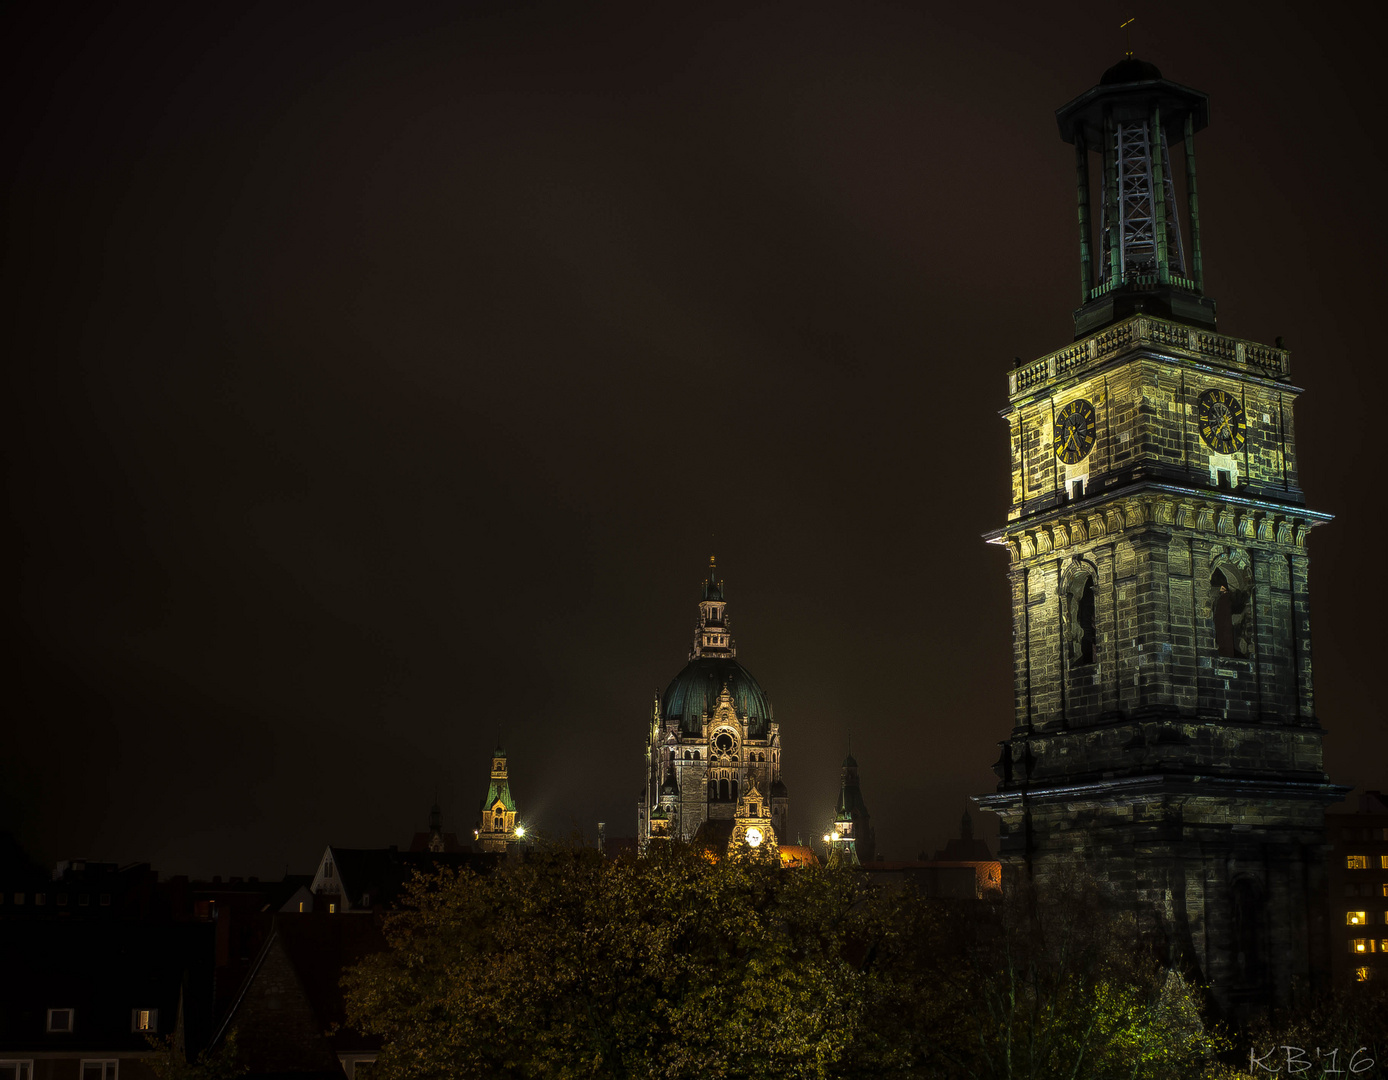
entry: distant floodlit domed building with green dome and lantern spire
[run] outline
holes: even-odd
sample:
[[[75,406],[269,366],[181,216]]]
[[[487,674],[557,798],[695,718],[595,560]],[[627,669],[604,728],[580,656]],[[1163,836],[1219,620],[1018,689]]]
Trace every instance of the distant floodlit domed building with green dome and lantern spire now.
[[[726,833],[733,843],[751,829],[775,850],[790,812],[780,725],[766,691],[737,662],[723,583],[708,564],[688,664],[655,698],[647,730],[637,836],[644,850],[652,837],[716,841]],[[761,825],[748,827],[752,818]]]

